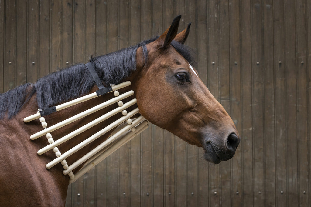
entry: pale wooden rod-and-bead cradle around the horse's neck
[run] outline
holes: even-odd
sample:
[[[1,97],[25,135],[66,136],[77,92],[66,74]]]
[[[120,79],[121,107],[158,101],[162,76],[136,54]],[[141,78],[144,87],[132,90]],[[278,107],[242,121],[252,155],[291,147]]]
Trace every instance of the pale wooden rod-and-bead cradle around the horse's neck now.
[[[57,124],[54,124],[53,126],[48,127],[48,124],[44,117],[40,117],[40,113],[38,110],[37,114],[28,116],[24,119],[24,122],[29,122],[35,119],[40,120],[42,127],[44,128],[42,131],[39,131],[33,135],[30,136],[31,140],[37,139],[39,137],[42,137],[45,135],[48,139],[49,144],[42,149],[38,150],[38,155],[42,155],[45,152],[49,150],[53,150],[56,157],[54,160],[46,164],[46,168],[50,169],[54,165],[58,164],[59,162],[63,165],[63,174],[67,174],[70,177],[70,183],[76,181],[79,177],[81,177],[84,173],[89,171],[92,167],[94,167],[96,164],[98,164],[101,160],[104,160],[106,157],[108,157],[110,154],[112,154],[114,151],[116,151],[118,148],[123,146],[125,143],[130,141],[133,137],[136,137],[139,133],[141,133],[143,130],[145,130],[148,127],[148,122],[143,116],[139,116],[137,119],[131,119],[131,117],[137,113],[139,113],[138,108],[127,112],[127,108],[134,105],[137,101],[136,99],[132,99],[126,103],[123,104],[123,99],[130,97],[134,94],[133,91],[128,91],[126,93],[123,93],[119,95],[118,89],[124,88],[126,86],[129,86],[131,84],[130,81],[126,81],[124,83],[120,83],[115,86],[111,86],[111,88],[114,90],[114,98],[105,101],[97,106],[94,106],[88,110],[85,110],[77,115],[74,115],[68,119],[65,119]],[[97,97],[96,92],[86,95],[84,97],[77,98],[72,101],[68,101],[66,103],[63,103],[61,105],[55,106],[56,110],[63,110],[69,106],[76,105],[78,103],[90,100],[92,98]],[[85,117],[87,115],[90,115],[94,113],[95,111],[98,111],[100,109],[103,109],[107,106],[110,106],[114,103],[118,104],[118,107],[114,110],[111,110],[107,112],[106,114],[98,117],[97,119],[94,119],[93,121],[85,124],[84,126],[74,130],[73,132],[59,138],[58,140],[54,141],[52,138],[51,132],[66,126],[67,124],[70,124],[78,119],[81,119],[82,117]],[[108,126],[104,127],[97,133],[93,134],[92,136],[88,137],[86,140],[82,141],[81,143],[77,144],[76,146],[72,147],[68,151],[64,152],[63,154],[58,150],[58,146],[60,144],[63,144],[64,142],[70,140],[71,138],[79,135],[80,133],[86,131],[87,129],[95,126],[96,124],[101,123],[102,121],[112,117],[113,115],[116,115],[118,113],[122,113],[122,117],[115,120]],[[73,153],[77,152],[84,146],[88,145],[89,143],[96,140],[98,137],[102,136],[103,134],[109,132],[110,130],[114,129],[114,132],[110,134],[110,137],[99,144],[97,147],[95,147],[93,150],[88,152],[86,155],[82,156],[80,159],[76,160],[71,165],[68,165],[67,161],[65,160],[68,156],[72,155]],[[81,164],[84,164],[82,169],[80,169],[75,175],[72,173],[72,170],[76,169]]]

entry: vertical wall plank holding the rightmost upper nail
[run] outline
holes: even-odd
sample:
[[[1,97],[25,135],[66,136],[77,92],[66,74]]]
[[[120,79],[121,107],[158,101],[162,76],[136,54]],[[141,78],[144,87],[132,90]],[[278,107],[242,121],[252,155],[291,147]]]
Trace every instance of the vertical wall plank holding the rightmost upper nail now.
[[[306,69],[306,4],[297,0],[296,5],[296,70],[297,70],[297,199],[299,206],[307,206],[308,195],[303,194],[308,188],[308,111],[307,109],[307,69]],[[292,142],[295,142],[292,140]],[[294,173],[293,173],[294,174]],[[293,175],[294,177],[294,175]],[[289,178],[290,180],[290,178]],[[295,182],[295,180],[293,179]],[[295,188],[293,189],[295,190]],[[292,191],[295,193],[295,191]]]

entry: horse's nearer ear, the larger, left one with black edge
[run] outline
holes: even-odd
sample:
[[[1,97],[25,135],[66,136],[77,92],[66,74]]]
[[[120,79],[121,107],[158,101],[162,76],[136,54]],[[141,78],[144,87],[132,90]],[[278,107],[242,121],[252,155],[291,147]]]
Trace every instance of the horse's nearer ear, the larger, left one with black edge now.
[[[167,47],[172,42],[172,40],[175,38],[177,34],[180,18],[181,18],[181,15],[176,16],[172,24],[170,25],[170,27],[167,28],[165,32],[156,40],[156,45],[159,48]]]

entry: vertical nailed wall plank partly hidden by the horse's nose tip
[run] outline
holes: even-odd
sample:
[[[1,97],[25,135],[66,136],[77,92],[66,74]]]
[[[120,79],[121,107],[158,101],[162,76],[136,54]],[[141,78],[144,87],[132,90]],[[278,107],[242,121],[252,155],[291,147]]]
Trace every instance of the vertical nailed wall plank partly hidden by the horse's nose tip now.
[[[240,30],[241,30],[241,2],[230,2],[230,115],[238,132],[242,130],[242,73],[241,73],[241,51],[240,51]],[[242,206],[242,151],[241,145],[237,148],[235,159],[231,160],[231,206]]]

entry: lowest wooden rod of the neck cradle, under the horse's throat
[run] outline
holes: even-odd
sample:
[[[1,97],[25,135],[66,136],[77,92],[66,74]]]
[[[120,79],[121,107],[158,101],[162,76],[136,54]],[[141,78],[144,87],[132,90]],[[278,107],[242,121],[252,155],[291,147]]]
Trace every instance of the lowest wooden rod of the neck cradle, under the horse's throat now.
[[[135,131],[135,132],[130,132],[128,133],[126,136],[129,136],[129,139],[123,143],[123,145],[125,143],[127,143],[128,141],[130,141],[132,138],[136,137],[139,133],[141,133],[142,131],[144,131],[146,128],[148,128],[148,125],[145,125],[141,130],[139,131]],[[124,138],[128,138],[128,137],[124,137]],[[122,145],[121,145],[122,146]],[[119,147],[121,147],[119,146]],[[119,148],[118,147],[118,148]],[[83,174],[87,173],[90,169],[92,169],[96,164],[100,163],[102,160],[104,160],[106,157],[108,157],[110,154],[112,154],[114,151],[116,151],[118,149],[117,147],[110,147],[107,151],[105,151],[104,153],[102,153],[101,155],[99,155],[98,157],[96,157],[92,162],[90,162],[89,164],[87,164],[85,167],[83,167],[81,170],[79,170],[76,174],[75,177],[73,179],[69,180],[69,184],[72,182],[75,182],[78,178],[80,178]]]

